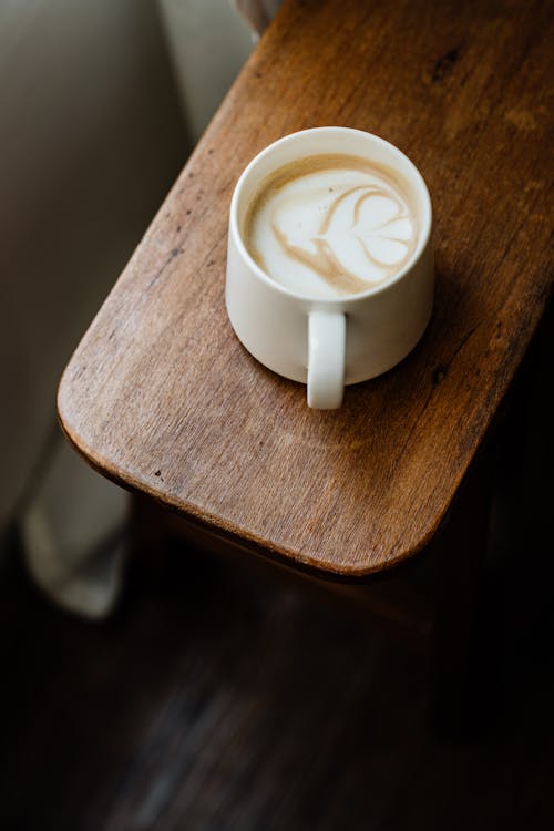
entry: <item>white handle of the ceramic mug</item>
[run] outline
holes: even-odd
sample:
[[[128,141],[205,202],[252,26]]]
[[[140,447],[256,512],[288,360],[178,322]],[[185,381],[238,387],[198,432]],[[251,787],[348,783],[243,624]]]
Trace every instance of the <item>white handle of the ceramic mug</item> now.
[[[345,392],[346,316],[310,311],[308,317],[308,407],[336,410]]]

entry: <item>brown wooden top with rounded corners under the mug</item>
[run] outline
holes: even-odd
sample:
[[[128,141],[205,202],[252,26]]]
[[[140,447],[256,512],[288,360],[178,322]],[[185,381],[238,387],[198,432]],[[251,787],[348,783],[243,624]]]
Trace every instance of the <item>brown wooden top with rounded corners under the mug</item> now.
[[[59,413],[79,451],[288,563],[361,576],[420,550],[550,295],[550,11],[286,2],[65,370]],[[423,340],[329,412],[243,349],[224,306],[240,171],[277,137],[325,124],[377,133],[413,160],[437,250]]]

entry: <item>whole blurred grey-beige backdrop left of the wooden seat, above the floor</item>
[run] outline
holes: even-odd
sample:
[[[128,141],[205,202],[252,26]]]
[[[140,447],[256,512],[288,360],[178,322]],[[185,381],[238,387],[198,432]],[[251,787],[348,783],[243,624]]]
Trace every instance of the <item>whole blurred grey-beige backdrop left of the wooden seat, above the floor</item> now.
[[[57,383],[264,22],[228,0],[0,4],[0,534],[84,614],[115,599],[127,500],[62,440]]]

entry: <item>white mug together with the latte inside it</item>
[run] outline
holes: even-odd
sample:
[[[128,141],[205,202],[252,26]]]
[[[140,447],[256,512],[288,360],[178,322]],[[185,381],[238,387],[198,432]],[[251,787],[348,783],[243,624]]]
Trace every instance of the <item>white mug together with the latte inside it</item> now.
[[[419,171],[379,136],[314,127],[284,136],[233,194],[225,302],[261,363],[340,407],[345,384],[413,349],[433,305],[432,209]]]

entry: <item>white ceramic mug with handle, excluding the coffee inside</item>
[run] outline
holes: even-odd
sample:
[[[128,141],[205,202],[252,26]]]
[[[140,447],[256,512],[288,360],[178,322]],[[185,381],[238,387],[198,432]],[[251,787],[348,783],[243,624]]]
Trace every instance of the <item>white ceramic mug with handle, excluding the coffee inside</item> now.
[[[248,254],[242,236],[248,205],[260,183],[305,156],[340,153],[392,167],[416,199],[419,235],[408,263],[388,281],[357,295],[311,298],[271,279]],[[308,384],[308,404],[340,407],[345,383],[381,375],[419,341],[433,304],[431,199],[410,160],[371,133],[315,127],[293,133],[259,153],[233,194],[228,236],[226,305],[232,326],[263,365]]]

